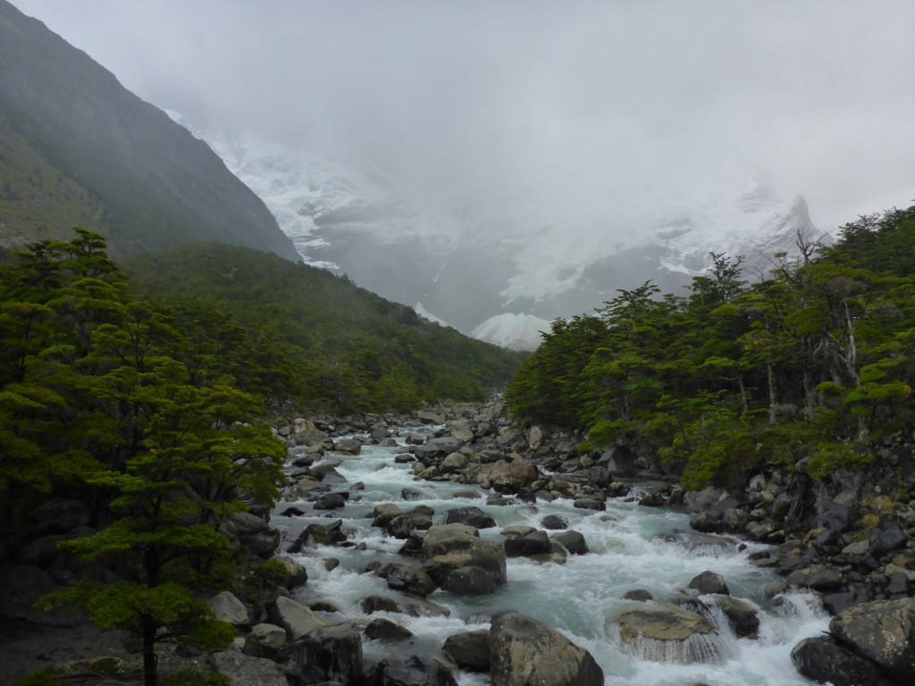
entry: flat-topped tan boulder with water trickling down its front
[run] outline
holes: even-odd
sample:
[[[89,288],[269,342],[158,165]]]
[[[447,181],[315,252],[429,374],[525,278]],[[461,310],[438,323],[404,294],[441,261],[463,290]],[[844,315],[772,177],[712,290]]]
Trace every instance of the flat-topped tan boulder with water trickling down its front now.
[[[617,619],[622,644],[640,659],[656,662],[716,661],[723,648],[717,630],[701,615],[660,604],[640,606]]]

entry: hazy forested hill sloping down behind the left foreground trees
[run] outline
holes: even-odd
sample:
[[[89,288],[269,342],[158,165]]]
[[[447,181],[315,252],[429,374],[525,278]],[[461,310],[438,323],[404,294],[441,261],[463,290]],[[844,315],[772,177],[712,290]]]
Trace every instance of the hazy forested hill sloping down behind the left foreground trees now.
[[[298,406],[353,413],[479,401],[525,356],[265,252],[208,243],[125,267],[135,291],[204,339],[243,389]]]

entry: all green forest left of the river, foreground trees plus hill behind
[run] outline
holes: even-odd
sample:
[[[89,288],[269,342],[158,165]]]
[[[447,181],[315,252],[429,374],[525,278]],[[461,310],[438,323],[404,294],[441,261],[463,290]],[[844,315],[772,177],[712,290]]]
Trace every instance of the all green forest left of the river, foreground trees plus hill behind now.
[[[196,592],[235,584],[245,561],[221,528],[277,497],[286,451],[266,415],[478,399],[521,356],[247,248],[130,273],[82,229],[0,266],[0,564],[27,545],[29,511],[86,503],[99,529],[60,548],[89,566],[43,602],[133,631],[155,683],[158,641],[234,635]]]

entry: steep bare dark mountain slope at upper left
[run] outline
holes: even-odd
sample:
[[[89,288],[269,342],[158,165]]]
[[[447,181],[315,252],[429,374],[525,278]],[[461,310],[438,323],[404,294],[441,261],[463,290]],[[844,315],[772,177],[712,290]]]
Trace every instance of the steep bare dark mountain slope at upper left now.
[[[208,145],[0,0],[0,245],[103,233],[115,255],[221,241],[300,260]]]

